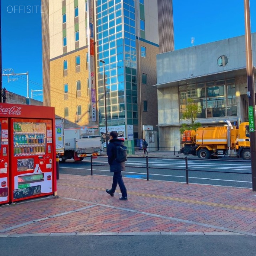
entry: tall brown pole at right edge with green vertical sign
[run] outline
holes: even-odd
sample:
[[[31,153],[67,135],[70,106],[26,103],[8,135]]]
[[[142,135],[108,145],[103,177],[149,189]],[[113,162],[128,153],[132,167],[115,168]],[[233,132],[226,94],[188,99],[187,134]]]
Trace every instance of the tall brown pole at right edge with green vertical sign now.
[[[250,22],[250,1],[244,0],[246,72],[249,103],[250,150],[252,165],[252,190],[256,191],[256,136],[255,136],[255,90],[252,64],[252,34]]]

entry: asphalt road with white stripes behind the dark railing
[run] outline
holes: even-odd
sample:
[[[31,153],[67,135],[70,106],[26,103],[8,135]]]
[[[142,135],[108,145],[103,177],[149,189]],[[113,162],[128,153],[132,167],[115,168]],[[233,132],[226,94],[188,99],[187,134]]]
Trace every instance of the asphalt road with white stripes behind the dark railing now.
[[[186,182],[184,158],[148,158],[150,180]],[[60,173],[90,175],[90,159],[60,164]],[[111,175],[107,158],[93,159],[93,174]],[[146,158],[128,158],[124,177],[147,179]],[[188,159],[189,183],[252,188],[251,162]]]

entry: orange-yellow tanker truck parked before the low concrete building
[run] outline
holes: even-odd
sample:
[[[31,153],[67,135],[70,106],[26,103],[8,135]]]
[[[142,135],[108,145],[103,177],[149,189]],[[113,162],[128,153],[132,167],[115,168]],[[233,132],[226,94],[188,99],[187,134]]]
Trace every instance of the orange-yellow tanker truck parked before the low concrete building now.
[[[200,127],[196,131],[185,131],[182,136],[180,153],[208,159],[236,156],[251,160],[249,123],[232,126],[225,120],[226,126]]]

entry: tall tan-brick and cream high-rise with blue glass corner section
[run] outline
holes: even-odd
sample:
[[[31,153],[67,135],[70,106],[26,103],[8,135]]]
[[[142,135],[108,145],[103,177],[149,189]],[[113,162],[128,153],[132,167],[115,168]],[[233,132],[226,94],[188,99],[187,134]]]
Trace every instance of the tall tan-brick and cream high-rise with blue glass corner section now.
[[[174,49],[172,1],[42,0],[42,5],[44,105],[54,106],[66,127],[98,127],[95,132],[104,133],[106,94],[108,132],[136,139],[143,125],[156,130],[157,89],[151,86],[156,54]]]

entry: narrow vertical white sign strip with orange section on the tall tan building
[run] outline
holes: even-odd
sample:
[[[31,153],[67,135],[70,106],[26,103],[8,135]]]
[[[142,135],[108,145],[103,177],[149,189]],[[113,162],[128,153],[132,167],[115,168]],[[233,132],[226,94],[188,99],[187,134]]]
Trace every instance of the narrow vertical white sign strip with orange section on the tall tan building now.
[[[96,97],[95,97],[95,70],[94,70],[94,13],[93,13],[93,0],[87,0],[87,38],[88,40],[88,64],[89,64],[89,84],[91,88],[92,99],[92,121],[96,121]]]

